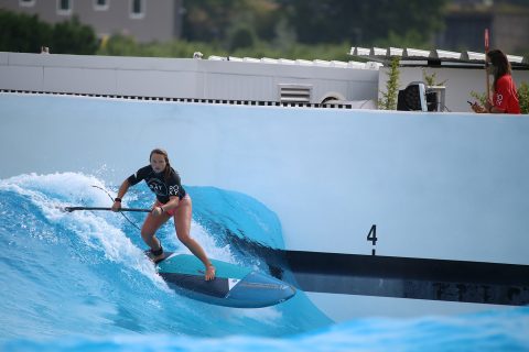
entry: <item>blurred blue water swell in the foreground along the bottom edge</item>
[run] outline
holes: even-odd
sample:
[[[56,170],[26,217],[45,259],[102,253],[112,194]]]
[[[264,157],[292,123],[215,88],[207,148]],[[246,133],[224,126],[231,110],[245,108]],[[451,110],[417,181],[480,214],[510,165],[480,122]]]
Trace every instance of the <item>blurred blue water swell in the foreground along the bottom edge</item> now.
[[[287,338],[115,336],[35,342],[13,340],[6,351],[528,351],[529,308],[461,317],[358,319]],[[0,343],[0,346],[2,344]]]

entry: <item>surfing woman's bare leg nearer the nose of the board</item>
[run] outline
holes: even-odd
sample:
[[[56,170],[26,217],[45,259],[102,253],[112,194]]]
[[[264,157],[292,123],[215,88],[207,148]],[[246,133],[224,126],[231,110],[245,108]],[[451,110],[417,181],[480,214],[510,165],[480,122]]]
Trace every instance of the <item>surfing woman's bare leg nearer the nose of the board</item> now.
[[[185,196],[180,200],[179,207],[174,213],[174,227],[176,229],[176,237],[190,251],[196,255],[206,267],[206,279],[215,278],[215,267],[209,262],[206,252],[203,248],[191,237],[191,218],[193,206],[190,196]]]

